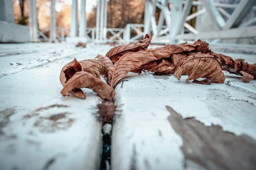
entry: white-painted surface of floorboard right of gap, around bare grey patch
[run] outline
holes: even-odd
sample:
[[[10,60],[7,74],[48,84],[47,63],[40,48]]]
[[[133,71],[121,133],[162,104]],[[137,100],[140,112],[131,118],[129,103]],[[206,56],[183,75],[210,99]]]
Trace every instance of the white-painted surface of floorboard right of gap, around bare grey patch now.
[[[206,126],[218,124],[224,131],[256,139],[255,80],[244,84],[227,74],[225,84],[198,85],[187,84],[186,78],[133,74],[117,85],[122,111],[113,126],[113,170],[184,169],[182,139],[168,122],[165,105],[184,119],[195,117]],[[251,90],[228,85],[233,81]]]

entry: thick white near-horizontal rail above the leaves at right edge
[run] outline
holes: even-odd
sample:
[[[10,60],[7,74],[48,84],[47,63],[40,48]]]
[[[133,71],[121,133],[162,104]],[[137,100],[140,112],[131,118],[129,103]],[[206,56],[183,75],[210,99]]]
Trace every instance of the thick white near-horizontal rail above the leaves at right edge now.
[[[199,34],[179,34],[176,39],[232,39],[256,37],[256,26],[233,28],[229,30],[204,32]]]

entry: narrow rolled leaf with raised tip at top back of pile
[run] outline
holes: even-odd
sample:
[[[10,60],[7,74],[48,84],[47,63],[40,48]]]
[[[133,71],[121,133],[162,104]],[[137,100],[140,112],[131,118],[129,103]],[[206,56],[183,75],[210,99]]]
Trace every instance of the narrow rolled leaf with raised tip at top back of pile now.
[[[106,53],[106,56],[110,58],[113,63],[116,63],[119,58],[127,52],[135,52],[140,50],[146,50],[151,42],[152,35],[146,34],[144,39],[139,40],[136,43],[131,43],[128,45],[118,46],[112,48]]]

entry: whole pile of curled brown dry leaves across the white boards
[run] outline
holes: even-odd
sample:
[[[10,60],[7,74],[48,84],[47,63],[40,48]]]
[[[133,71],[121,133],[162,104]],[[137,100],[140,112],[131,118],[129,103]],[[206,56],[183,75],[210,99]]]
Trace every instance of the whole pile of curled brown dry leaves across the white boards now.
[[[77,61],[65,65],[60,72],[60,82],[63,85],[63,96],[70,92],[85,99],[82,87],[91,88],[102,99],[113,100],[115,85],[128,72],[141,73],[151,71],[155,74],[174,74],[179,80],[182,74],[187,74],[194,83],[207,84],[224,83],[222,70],[243,76],[243,82],[256,78],[256,64],[248,64],[242,59],[231,57],[209,50],[209,44],[197,40],[193,44],[172,44],[155,49],[147,49],[152,36],[146,35],[136,43],[112,48],[105,56],[98,55],[96,59]],[[108,78],[108,84],[101,80]],[[198,78],[206,78],[197,81]]]

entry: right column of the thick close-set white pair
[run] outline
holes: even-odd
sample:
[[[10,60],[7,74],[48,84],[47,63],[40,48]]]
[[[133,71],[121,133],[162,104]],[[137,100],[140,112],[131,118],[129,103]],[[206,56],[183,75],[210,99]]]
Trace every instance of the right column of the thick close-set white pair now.
[[[86,36],[86,0],[81,0],[80,21],[79,21],[79,37]]]

